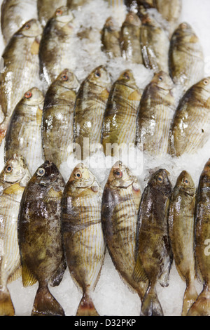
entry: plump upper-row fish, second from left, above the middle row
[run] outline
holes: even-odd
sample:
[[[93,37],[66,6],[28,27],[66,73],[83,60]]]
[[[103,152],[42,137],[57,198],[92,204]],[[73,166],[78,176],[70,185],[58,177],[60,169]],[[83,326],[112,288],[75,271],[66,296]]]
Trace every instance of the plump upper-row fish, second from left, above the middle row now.
[[[43,29],[39,48],[40,75],[45,88],[52,84],[57,76],[65,70],[73,69],[71,54],[74,32],[73,15],[69,8],[57,8]]]

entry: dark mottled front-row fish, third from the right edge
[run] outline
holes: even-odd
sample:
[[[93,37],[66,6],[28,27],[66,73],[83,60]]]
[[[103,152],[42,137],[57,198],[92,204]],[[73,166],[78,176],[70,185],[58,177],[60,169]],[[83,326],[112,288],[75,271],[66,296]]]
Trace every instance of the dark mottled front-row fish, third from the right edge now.
[[[167,213],[172,194],[169,173],[159,169],[151,175],[141,197],[137,225],[137,263],[133,277],[148,280],[141,304],[141,316],[163,316],[156,285],[169,285],[172,248],[169,242]]]

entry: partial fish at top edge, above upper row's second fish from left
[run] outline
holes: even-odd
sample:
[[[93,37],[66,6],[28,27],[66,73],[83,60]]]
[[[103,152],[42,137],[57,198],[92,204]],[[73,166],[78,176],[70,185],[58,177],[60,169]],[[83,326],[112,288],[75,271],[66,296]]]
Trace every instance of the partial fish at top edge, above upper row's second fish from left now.
[[[61,6],[66,6],[66,0],[37,0],[38,20],[43,27]]]

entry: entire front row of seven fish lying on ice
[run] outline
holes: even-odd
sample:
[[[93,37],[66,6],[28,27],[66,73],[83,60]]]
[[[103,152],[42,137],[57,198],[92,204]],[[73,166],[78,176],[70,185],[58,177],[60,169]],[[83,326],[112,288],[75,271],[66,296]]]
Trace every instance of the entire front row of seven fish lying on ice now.
[[[30,177],[22,157],[13,155],[0,176],[0,315],[15,314],[7,284],[22,274],[23,286],[38,282],[31,315],[64,316],[48,284],[59,285],[66,264],[83,292],[76,315],[99,315],[92,292],[106,247],[120,277],[139,294],[141,315],[163,315],[156,285],[169,285],[173,258],[186,281],[182,315],[210,315],[209,168],[210,160],[197,190],[188,172],[172,189],[169,173],[158,169],[141,194],[137,177],[121,161],[103,191],[83,163],[65,184],[52,162]],[[200,295],[196,278],[204,285]]]

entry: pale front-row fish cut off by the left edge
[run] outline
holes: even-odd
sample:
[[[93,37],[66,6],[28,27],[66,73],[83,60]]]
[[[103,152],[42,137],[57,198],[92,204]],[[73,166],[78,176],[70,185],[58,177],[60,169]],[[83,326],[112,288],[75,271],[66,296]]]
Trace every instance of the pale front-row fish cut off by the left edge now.
[[[25,160],[13,154],[0,173],[0,315],[14,316],[7,284],[21,276],[18,246],[18,212],[30,179]]]

